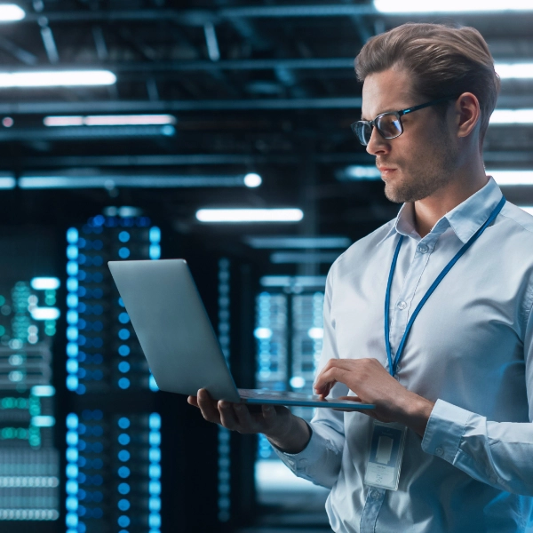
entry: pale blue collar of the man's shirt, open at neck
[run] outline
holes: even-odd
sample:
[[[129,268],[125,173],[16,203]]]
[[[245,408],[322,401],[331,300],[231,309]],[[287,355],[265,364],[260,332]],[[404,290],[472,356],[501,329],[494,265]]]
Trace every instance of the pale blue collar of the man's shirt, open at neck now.
[[[502,191],[497,186],[496,181],[490,176],[487,184],[477,191],[477,193],[466,198],[465,202],[459,203],[457,207],[446,213],[434,225],[432,232],[439,228],[439,233],[442,233],[442,225],[446,224],[446,226],[449,225],[453,229],[462,243],[466,243],[489,218],[490,213],[497,206],[501,198]],[[411,237],[419,241],[420,235],[418,235],[415,229],[413,210],[413,203],[404,203],[394,220],[393,226],[378,244],[386,241],[391,235],[396,234],[405,235],[406,237]]]

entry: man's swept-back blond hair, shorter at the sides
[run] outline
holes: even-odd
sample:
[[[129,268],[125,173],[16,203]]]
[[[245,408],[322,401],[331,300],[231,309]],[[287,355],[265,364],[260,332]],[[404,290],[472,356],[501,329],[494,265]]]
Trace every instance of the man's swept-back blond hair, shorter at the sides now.
[[[355,58],[360,82],[389,68],[407,70],[413,89],[427,99],[472,92],[480,102],[480,146],[496,107],[499,76],[489,46],[474,28],[402,24],[372,37]],[[418,102],[417,102],[418,103]]]

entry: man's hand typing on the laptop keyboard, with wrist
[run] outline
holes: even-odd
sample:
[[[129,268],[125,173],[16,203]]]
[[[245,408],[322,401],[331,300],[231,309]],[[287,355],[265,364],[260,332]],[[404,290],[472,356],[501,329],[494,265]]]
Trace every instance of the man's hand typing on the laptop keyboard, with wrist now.
[[[400,385],[377,359],[330,359],[315,379],[314,390],[325,397],[337,382],[357,395],[343,400],[376,405],[375,410],[362,411],[365,414],[381,422],[399,422],[424,436],[434,402]]]

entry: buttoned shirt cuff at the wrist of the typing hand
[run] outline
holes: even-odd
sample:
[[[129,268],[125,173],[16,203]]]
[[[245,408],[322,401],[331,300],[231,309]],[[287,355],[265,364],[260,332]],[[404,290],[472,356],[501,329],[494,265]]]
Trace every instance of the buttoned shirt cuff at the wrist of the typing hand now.
[[[422,449],[453,464],[466,424],[472,415],[470,411],[437,400],[427,421]]]

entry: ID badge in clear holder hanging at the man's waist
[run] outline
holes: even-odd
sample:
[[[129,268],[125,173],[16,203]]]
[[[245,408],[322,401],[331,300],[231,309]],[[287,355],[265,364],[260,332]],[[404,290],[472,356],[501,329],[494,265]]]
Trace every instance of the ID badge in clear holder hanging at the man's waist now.
[[[364,482],[372,487],[398,490],[407,428],[374,420]]]

